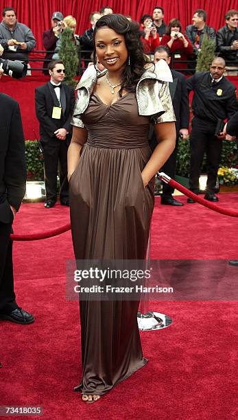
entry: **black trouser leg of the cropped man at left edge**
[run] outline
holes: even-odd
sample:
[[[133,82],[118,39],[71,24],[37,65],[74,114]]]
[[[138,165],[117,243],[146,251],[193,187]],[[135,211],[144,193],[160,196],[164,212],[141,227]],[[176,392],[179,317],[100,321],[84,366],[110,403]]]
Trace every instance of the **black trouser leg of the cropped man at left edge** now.
[[[0,313],[9,314],[18,307],[14,294],[12,267],[12,224],[0,222]]]

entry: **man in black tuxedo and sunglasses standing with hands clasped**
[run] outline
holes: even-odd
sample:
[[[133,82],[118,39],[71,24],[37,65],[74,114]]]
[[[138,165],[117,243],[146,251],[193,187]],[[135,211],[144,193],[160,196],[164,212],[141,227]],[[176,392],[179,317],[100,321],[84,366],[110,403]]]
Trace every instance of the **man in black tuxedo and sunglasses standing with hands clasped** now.
[[[74,90],[64,80],[64,63],[49,63],[48,83],[36,88],[36,116],[40,122],[40,144],[45,167],[45,207],[49,209],[57,200],[57,173],[60,163],[60,203],[69,206],[67,180],[67,150],[71,141],[71,117],[75,103]]]

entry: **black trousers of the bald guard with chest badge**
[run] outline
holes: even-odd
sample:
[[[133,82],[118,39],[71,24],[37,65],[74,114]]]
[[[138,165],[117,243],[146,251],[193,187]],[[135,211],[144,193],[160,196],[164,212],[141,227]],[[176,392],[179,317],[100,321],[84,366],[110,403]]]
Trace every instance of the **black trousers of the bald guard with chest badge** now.
[[[216,123],[198,117],[193,117],[190,136],[190,176],[189,187],[191,191],[199,191],[199,177],[204,152],[206,152],[207,183],[206,192],[217,191],[217,171],[221,159],[222,141],[215,137]]]

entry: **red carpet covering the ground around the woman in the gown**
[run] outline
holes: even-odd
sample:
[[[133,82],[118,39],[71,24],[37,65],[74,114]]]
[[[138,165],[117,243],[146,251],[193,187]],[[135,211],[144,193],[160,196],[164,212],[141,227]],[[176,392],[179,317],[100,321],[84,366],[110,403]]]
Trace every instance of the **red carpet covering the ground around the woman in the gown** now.
[[[219,197],[219,205],[237,208],[237,194]],[[45,231],[68,220],[69,209],[60,205],[46,210],[42,203],[27,204],[14,231]],[[236,258],[237,223],[200,205],[156,205],[152,258]],[[150,310],[169,314],[173,324],[141,333],[149,363],[97,403],[83,404],[73,393],[80,380],[80,326],[78,303],[65,301],[70,258],[70,232],[14,246],[17,300],[36,322],[0,324],[0,406],[43,406],[47,420],[237,419],[235,302],[150,303]]]

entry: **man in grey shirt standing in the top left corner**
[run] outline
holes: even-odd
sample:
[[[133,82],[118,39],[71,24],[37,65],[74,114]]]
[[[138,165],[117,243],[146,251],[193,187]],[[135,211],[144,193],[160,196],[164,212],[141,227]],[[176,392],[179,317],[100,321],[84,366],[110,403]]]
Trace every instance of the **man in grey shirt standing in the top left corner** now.
[[[13,8],[3,9],[3,21],[0,23],[0,44],[5,60],[28,61],[29,51],[36,47],[32,31],[23,23],[16,21]]]

